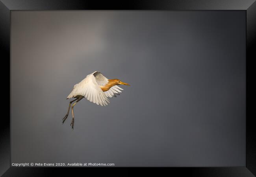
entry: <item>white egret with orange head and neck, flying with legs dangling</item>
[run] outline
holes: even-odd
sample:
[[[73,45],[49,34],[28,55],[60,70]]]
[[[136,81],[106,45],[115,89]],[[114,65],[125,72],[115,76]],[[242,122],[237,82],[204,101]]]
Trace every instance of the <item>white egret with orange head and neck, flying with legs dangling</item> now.
[[[86,98],[92,103],[100,106],[106,106],[110,103],[108,98],[117,97],[117,95],[120,95],[122,92],[121,90],[124,90],[117,85],[130,86],[128,83],[124,83],[119,79],[107,79],[98,71],[87,75],[82,81],[74,85],[69,96],[67,96],[67,99],[75,98],[75,100],[69,102],[69,108],[67,114],[62,119],[62,124],[64,124],[65,120],[69,116],[71,107],[72,120],[70,126],[74,130],[74,106],[76,103],[83,98]],[[71,106],[74,101],[76,102]]]

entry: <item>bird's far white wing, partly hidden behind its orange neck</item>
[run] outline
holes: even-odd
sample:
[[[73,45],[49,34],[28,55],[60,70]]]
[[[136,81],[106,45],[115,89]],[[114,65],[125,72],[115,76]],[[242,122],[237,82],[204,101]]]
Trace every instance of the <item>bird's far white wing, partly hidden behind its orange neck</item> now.
[[[108,78],[106,78],[105,76],[103,76],[103,74],[101,74],[98,71],[95,71],[92,73],[93,76],[95,76],[96,82],[98,83],[98,85],[104,86],[108,83]],[[103,92],[105,94],[106,97],[112,98],[117,97],[116,95],[120,95],[119,93],[122,93],[121,90],[124,90],[120,87],[118,87],[117,85],[111,87],[108,91]]]

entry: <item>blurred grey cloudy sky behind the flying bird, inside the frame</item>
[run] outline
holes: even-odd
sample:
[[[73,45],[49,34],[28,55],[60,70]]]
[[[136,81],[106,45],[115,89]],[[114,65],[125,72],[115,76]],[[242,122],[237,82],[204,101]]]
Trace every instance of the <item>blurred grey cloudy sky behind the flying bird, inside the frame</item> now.
[[[11,163],[245,166],[245,11],[12,11]],[[66,100],[98,70],[107,107]],[[71,112],[70,112],[71,113]]]

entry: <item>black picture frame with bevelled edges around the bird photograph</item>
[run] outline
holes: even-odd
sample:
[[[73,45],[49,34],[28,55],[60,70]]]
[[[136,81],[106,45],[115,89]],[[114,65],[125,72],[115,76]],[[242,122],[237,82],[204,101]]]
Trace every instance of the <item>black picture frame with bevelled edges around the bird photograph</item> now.
[[[195,168],[168,168],[169,174],[189,176],[253,176],[256,175],[256,133],[253,116],[248,114],[248,61],[256,58],[256,2],[254,0],[136,0],[119,1],[111,4],[109,1],[89,0],[2,0],[0,2],[0,39],[2,61],[10,60],[10,13],[13,10],[244,10],[246,11],[247,28],[247,55],[246,55],[246,166],[243,167],[195,167]],[[4,64],[2,64],[4,65]],[[8,65],[8,62],[7,62]],[[7,67],[7,65],[4,65]],[[11,69],[11,68],[10,68]],[[2,75],[6,76],[6,74]],[[5,86],[6,87],[6,83]],[[8,89],[8,88],[6,88]],[[9,88],[10,90],[11,88]],[[9,92],[10,93],[10,92]],[[11,98],[11,97],[9,97]],[[7,105],[7,104],[6,104]],[[10,108],[11,109],[11,108]],[[0,139],[0,175],[2,176],[48,176],[58,171],[65,175],[74,174],[74,171],[88,170],[89,168],[19,168],[10,167],[10,120],[1,120]],[[93,168],[96,169],[96,168]],[[106,168],[105,168],[106,169]],[[167,168],[165,168],[167,170]],[[95,170],[93,170],[95,171]],[[70,173],[71,172],[71,173]],[[84,173],[81,173],[84,174]]]

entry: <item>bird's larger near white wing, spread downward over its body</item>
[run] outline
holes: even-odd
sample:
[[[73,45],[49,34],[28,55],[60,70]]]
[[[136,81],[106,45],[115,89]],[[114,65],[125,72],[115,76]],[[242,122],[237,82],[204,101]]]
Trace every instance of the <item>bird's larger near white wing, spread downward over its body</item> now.
[[[74,88],[68,98],[74,98],[78,95],[84,96],[87,100],[96,103],[97,105],[106,106],[109,103],[108,98],[101,90],[93,74],[89,74],[80,83],[74,85]]]

